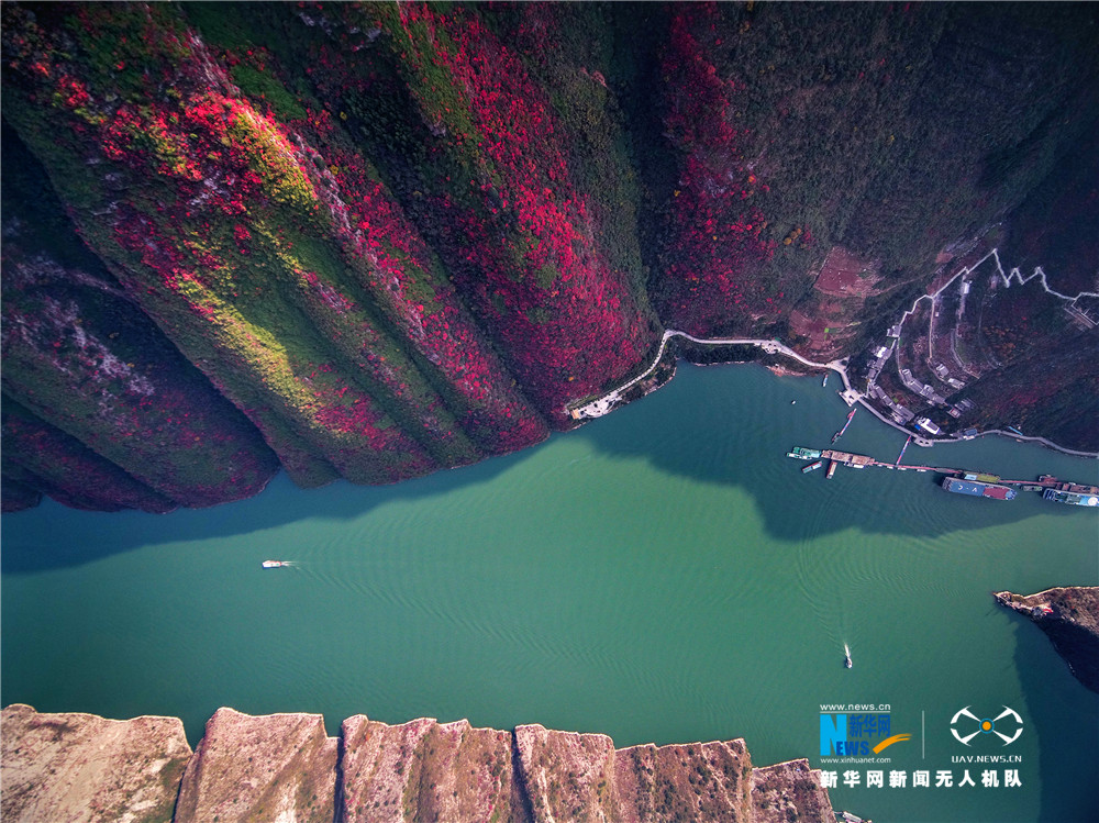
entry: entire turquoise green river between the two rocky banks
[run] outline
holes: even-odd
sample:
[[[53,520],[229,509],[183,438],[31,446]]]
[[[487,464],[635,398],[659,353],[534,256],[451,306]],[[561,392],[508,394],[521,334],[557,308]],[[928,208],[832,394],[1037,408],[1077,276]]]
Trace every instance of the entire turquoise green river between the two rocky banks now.
[[[845,414],[815,378],[685,366],[539,448],[396,487],[279,478],[206,511],[5,516],[2,702],[179,715],[192,743],[233,705],[322,712],[332,732],[365,713],[620,746],[743,736],[757,764],[813,766],[820,704],[888,703],[892,732],[914,735],[882,753],[892,763],[826,768],[956,782],[952,756],[1011,754],[1022,786],[1000,765],[984,788],[975,766],[975,788],[841,782],[836,808],[1094,819],[1099,696],[989,592],[1099,583],[1097,513],[947,494],[912,471],[826,481],[782,456],[824,446]],[[902,443],[864,411],[841,445],[889,460]],[[906,459],[1097,481],[1095,461],[1002,440]],[[1011,707],[1023,733],[966,748],[950,733],[965,705]]]

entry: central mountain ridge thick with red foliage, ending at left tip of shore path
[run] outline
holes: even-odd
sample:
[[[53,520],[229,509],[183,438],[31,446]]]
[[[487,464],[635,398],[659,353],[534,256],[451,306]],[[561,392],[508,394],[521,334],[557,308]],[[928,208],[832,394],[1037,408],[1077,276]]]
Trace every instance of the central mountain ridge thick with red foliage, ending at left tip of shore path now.
[[[526,391],[544,413],[563,415],[568,400],[637,365],[651,343],[648,324],[624,277],[606,263],[546,93],[519,57],[471,14],[444,16],[420,3],[400,12],[413,43],[400,55],[402,70],[444,67],[475,129],[440,141],[444,158],[478,169],[468,191],[440,187],[434,201],[452,226],[443,234],[452,273],[502,340]],[[422,30],[435,45],[426,54],[414,51]],[[423,84],[411,88],[425,118],[460,122],[435,108]]]

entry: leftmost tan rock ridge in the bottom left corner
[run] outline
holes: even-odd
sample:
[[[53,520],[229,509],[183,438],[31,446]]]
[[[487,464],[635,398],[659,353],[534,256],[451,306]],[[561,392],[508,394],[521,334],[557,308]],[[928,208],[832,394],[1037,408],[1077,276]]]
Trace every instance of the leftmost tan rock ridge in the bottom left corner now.
[[[177,718],[103,720],[19,703],[0,715],[5,823],[165,823],[191,747]]]

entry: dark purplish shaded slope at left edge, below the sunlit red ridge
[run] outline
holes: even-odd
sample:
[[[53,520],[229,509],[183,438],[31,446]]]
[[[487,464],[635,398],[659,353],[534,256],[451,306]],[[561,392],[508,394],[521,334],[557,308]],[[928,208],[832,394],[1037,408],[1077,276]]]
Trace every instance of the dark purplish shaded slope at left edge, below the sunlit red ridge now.
[[[167,511],[255,494],[259,433],[81,245],[3,132],[3,472],[70,505]]]

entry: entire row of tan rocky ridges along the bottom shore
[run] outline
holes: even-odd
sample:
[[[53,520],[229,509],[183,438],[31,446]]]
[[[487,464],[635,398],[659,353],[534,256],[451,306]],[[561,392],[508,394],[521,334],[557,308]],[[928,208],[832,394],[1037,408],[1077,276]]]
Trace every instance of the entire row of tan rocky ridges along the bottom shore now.
[[[3,710],[4,821],[832,823],[808,761],[752,768],[744,741],[615,749],[601,734],[219,709],[180,721]],[[186,770],[185,770],[186,767]],[[178,801],[177,801],[178,794]]]

